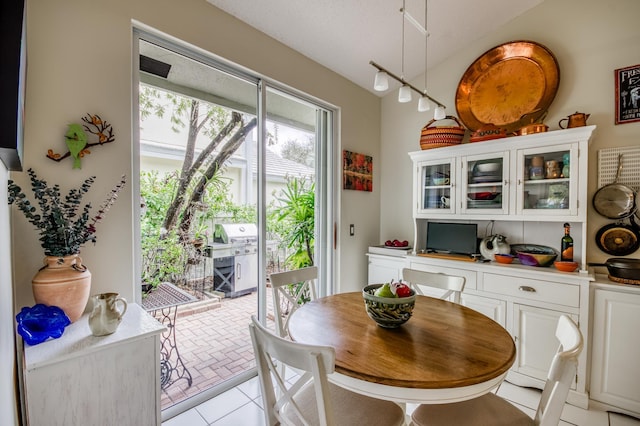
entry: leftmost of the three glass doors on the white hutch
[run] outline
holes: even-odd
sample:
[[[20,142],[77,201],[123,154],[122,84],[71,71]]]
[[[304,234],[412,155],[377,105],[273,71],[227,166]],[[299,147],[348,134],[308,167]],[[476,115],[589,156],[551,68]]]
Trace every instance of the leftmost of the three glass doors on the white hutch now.
[[[423,161],[418,165],[418,211],[455,212],[455,163],[452,159]]]

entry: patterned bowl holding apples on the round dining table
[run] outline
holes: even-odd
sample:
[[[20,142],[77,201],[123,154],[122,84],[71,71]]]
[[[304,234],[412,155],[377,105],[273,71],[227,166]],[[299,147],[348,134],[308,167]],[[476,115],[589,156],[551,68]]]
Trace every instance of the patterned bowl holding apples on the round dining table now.
[[[412,290],[409,297],[374,296],[373,293],[381,286],[382,284],[371,284],[362,290],[367,315],[380,327],[400,327],[411,318],[416,303],[416,294]]]

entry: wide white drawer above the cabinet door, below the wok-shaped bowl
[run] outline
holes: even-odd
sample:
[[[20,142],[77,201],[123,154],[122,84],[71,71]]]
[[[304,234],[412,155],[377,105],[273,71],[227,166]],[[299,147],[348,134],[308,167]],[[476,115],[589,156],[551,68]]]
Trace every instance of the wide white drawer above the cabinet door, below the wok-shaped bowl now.
[[[577,285],[498,274],[484,274],[483,278],[485,291],[575,308],[580,306],[580,288]]]

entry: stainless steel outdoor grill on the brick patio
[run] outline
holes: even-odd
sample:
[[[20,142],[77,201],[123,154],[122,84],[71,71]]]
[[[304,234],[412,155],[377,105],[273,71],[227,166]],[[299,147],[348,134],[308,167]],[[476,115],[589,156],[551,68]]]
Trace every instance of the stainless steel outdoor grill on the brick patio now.
[[[253,223],[217,224],[211,246],[213,290],[238,297],[256,290],[258,228]]]

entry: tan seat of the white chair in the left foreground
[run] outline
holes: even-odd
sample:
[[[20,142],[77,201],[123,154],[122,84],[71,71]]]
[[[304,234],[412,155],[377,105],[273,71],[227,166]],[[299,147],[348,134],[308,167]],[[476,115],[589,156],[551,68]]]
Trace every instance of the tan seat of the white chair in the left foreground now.
[[[344,388],[329,384],[331,408],[334,419],[339,425],[394,426],[404,424],[404,410],[394,402],[370,398]],[[300,407],[308,407],[313,412],[306,412],[311,424],[320,424],[316,407],[316,395],[313,383],[306,384],[294,398]],[[302,425],[295,414],[290,413],[290,406],[284,407],[282,414],[292,425]]]

